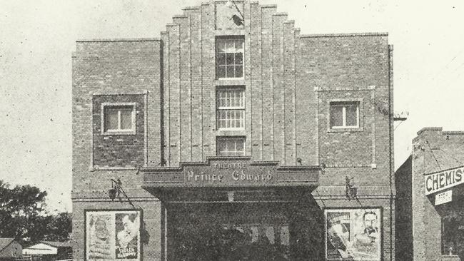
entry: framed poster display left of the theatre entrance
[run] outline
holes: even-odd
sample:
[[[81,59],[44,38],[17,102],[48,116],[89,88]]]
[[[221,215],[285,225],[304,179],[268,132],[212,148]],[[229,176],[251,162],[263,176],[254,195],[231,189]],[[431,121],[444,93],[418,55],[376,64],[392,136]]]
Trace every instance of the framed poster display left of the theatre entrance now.
[[[141,260],[141,210],[86,210],[86,260]]]

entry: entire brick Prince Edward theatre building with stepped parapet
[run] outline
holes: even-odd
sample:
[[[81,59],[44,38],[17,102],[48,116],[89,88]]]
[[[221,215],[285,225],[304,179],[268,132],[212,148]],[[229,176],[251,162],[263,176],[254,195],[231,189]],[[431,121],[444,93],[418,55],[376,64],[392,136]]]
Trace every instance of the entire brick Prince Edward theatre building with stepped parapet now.
[[[209,1],[77,41],[74,260],[395,260],[388,34],[295,24]]]

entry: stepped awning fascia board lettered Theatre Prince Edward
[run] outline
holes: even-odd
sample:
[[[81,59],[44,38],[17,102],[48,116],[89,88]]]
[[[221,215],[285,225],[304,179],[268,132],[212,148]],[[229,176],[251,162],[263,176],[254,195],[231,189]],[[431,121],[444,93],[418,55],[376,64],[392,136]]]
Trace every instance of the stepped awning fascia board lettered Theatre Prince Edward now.
[[[210,159],[206,163],[182,163],[180,168],[144,169],[150,187],[266,187],[317,185],[317,166],[279,166],[250,159]]]

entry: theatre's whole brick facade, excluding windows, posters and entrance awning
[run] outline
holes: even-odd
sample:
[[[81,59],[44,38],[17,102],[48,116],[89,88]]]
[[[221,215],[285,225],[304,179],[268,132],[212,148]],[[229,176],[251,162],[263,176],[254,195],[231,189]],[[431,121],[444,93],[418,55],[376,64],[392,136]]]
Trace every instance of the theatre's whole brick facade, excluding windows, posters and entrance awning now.
[[[141,167],[176,168],[216,155],[216,137],[246,137],[251,161],[324,165],[310,213],[323,237],[325,208],[381,208],[382,257],[395,260],[393,48],[387,34],[302,35],[275,5],[222,1],[183,9],[160,39],[84,40],[73,56],[74,259],[84,259],[84,210],[128,208],[109,200],[110,178],[143,210],[146,260],[163,260],[163,203],[142,188]],[[231,24],[232,23],[232,24]],[[216,37],[245,36],[240,79],[217,79]],[[216,124],[216,89],[244,86],[245,128]],[[104,102],[136,103],[135,135],[102,135]],[[329,126],[331,101],[358,101],[359,128]],[[345,195],[346,176],[358,200]],[[322,215],[322,216],[321,216]],[[321,241],[321,240],[320,240]],[[323,241],[323,240],[322,240]],[[323,250],[314,258],[322,258]]]

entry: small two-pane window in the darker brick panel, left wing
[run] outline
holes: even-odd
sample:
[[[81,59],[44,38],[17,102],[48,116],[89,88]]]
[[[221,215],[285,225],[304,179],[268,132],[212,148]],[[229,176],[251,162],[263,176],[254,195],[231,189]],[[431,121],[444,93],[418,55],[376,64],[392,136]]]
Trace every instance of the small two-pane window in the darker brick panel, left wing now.
[[[111,105],[103,106],[103,130],[111,132],[135,131],[135,105]]]

